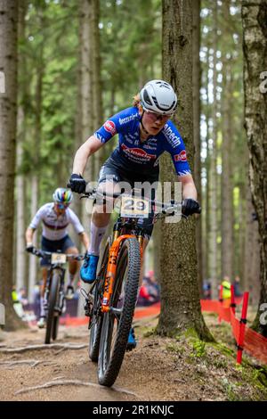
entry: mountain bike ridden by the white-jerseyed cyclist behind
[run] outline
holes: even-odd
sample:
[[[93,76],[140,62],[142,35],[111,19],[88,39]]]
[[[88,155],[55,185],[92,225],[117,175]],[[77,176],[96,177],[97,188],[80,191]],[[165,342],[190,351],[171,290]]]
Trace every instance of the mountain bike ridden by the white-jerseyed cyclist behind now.
[[[55,341],[58,336],[60,316],[64,308],[65,292],[64,278],[68,259],[82,260],[85,255],[65,254],[58,252],[42,251],[33,249],[32,253],[39,258],[44,258],[49,264],[44,301],[47,301],[46,328],[44,343],[49,344],[51,339]]]

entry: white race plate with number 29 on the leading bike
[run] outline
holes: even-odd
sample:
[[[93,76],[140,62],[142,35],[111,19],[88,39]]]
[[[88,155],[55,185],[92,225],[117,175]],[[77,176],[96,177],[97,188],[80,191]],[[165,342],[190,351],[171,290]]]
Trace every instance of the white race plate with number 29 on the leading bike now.
[[[148,218],[150,202],[142,198],[123,196],[120,215],[125,218]]]

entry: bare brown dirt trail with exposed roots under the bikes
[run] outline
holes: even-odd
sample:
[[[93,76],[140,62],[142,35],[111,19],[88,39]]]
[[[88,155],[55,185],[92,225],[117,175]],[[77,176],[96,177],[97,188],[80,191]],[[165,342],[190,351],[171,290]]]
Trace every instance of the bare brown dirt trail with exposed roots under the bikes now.
[[[153,389],[142,382],[150,382],[147,368],[142,377],[132,380],[132,366],[136,357],[140,357],[142,343],[134,352],[125,355],[121,374],[115,385],[108,389],[98,385],[97,366],[93,364],[87,353],[88,331],[86,326],[61,326],[57,343],[70,345],[85,345],[84,349],[35,349],[22,353],[0,352],[0,400],[149,400],[161,398],[156,391],[157,381]],[[4,333],[4,341],[0,342],[0,349],[21,348],[32,345],[43,345],[44,330],[36,327],[28,331]],[[134,355],[134,363],[133,363]],[[141,356],[142,357],[142,356]],[[131,377],[131,378],[130,378]],[[160,379],[160,377],[158,377]],[[64,385],[54,385],[57,382],[69,382]],[[27,390],[50,383],[52,387]],[[81,384],[85,385],[81,385]],[[22,392],[20,392],[22,391]]]

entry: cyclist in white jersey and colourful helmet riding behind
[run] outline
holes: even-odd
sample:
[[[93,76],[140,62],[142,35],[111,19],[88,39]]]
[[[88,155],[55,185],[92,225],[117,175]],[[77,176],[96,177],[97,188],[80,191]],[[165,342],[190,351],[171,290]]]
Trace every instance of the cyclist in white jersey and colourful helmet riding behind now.
[[[76,233],[83,242],[85,249],[89,248],[89,238],[85,233],[85,228],[81,225],[77,215],[69,204],[73,199],[73,194],[65,188],[57,188],[53,193],[53,202],[44,204],[36,212],[26,231],[26,250],[32,252],[34,250],[33,235],[40,222],[43,222],[42,233],[42,250],[43,251],[62,251],[66,254],[78,254],[78,250],[74,242],[69,237],[67,227],[72,224]],[[40,300],[40,319],[37,325],[42,328],[45,325],[45,305],[44,291],[47,281],[48,263],[46,259],[41,259],[43,285],[41,288]],[[73,281],[77,273],[78,262],[69,259],[69,282],[67,285],[66,298],[71,299],[74,294]]]

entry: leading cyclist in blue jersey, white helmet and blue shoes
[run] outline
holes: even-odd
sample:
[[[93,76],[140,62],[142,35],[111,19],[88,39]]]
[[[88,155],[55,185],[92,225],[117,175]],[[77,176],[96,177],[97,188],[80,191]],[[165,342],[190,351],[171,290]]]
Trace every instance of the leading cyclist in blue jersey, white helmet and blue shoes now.
[[[141,92],[134,96],[133,107],[109,118],[77,150],[72,175],[69,178],[71,190],[77,193],[85,192],[83,173],[88,158],[101,149],[112,136],[118,134],[117,148],[100,171],[98,181],[100,189],[106,192],[110,189],[116,191],[116,185],[120,181],[130,182],[131,185],[137,181],[147,181],[150,184],[157,182],[158,157],[163,152],[169,152],[178,180],[182,182],[184,213],[190,215],[196,212],[199,208],[197,191],[190,174],[184,144],[177,128],[170,120],[176,106],[177,97],[173,87],[164,80],[150,80],[143,86]],[[112,182],[114,185],[110,185]],[[153,229],[151,216],[150,214],[150,218],[142,221],[146,232],[144,249]],[[94,206],[90,248],[80,270],[85,283],[93,283],[95,280],[101,239],[109,224],[109,217],[109,213],[98,212],[97,205]],[[132,332],[129,342],[132,341],[135,347],[136,342]]]

